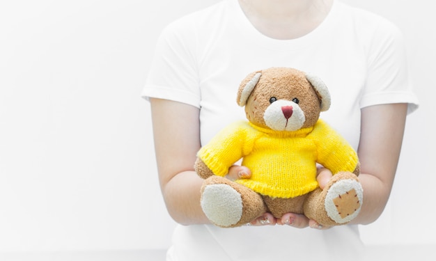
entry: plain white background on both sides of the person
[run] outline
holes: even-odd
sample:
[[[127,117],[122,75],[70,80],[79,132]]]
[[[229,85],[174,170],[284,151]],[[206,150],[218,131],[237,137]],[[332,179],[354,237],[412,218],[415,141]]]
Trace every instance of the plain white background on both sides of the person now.
[[[140,93],[162,28],[216,1],[0,0],[0,252],[169,246]],[[389,205],[362,237],[436,244],[436,4],[345,2],[400,27],[421,100]]]

